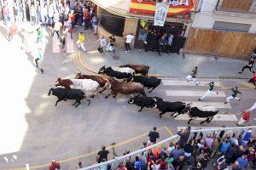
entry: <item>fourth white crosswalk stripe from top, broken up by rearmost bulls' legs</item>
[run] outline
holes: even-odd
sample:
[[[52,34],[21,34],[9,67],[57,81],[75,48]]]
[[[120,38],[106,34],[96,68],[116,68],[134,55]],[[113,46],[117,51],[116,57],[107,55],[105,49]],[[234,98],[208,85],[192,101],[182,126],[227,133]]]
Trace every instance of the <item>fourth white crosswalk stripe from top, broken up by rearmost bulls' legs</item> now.
[[[189,121],[190,117],[188,114],[179,115],[175,120]],[[197,118],[196,120],[206,120],[206,118]],[[236,115],[217,114],[213,117],[212,121],[237,121]]]

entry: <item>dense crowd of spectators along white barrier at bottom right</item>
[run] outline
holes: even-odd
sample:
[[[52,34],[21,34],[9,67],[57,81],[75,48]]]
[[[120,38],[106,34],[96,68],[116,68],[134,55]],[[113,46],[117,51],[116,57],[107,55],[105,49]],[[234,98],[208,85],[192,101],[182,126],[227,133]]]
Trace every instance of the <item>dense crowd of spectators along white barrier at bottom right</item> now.
[[[241,133],[191,133],[190,127],[177,133],[180,138],[166,146],[154,147],[135,159],[127,157],[119,163],[118,170],[241,170],[256,169],[256,137],[252,129]],[[160,137],[156,127],[148,133],[148,144]],[[189,138],[190,137],[190,138]],[[191,138],[192,137],[192,138]],[[103,146],[97,162],[108,161],[108,150]],[[130,150],[128,154],[130,153]],[[124,155],[127,153],[124,153]],[[101,169],[111,169],[110,165]]]

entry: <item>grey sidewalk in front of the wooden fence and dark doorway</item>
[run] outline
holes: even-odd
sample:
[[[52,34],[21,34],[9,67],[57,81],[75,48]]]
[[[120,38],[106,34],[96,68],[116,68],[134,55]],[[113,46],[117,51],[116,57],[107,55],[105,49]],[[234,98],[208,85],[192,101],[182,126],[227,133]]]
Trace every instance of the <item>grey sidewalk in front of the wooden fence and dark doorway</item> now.
[[[96,49],[96,47],[95,47]],[[125,49],[118,48],[114,55],[119,59],[113,59],[113,53],[104,52],[100,54],[97,50],[81,52],[81,61],[84,66],[92,71],[98,71],[102,65],[119,66],[125,64],[149,65],[150,74],[156,74],[164,77],[186,77],[195,66],[198,66],[197,77],[220,77],[220,78],[251,78],[253,73],[248,70],[244,74],[238,74],[245,65],[244,59],[228,59],[212,56],[202,56],[196,54],[162,54],[159,56],[156,52],[144,53],[143,49],[133,49],[131,53],[125,53]],[[254,68],[255,71],[255,68]]]

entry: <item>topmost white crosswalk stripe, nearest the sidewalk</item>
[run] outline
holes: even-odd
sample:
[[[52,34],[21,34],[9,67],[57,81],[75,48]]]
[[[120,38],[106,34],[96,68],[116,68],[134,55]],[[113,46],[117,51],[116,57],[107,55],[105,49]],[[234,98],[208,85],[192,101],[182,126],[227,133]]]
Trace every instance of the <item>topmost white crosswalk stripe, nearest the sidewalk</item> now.
[[[195,86],[195,82],[193,81],[187,82],[186,80],[162,80],[162,82],[165,86]],[[200,84],[198,86],[204,86],[209,83],[207,81],[199,81],[199,82]],[[214,85],[216,87],[220,86],[219,82],[214,82]]]

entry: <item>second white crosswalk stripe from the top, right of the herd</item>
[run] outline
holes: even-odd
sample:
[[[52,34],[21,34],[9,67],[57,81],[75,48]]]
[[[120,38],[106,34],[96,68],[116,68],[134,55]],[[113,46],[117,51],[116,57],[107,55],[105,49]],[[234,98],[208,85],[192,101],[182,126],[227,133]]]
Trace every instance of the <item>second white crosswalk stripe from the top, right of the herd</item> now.
[[[206,90],[201,90],[201,91],[187,91],[187,90],[166,90],[166,95],[167,96],[202,96],[207,93]],[[207,97],[226,97],[224,92],[218,92],[218,94],[210,94]]]

